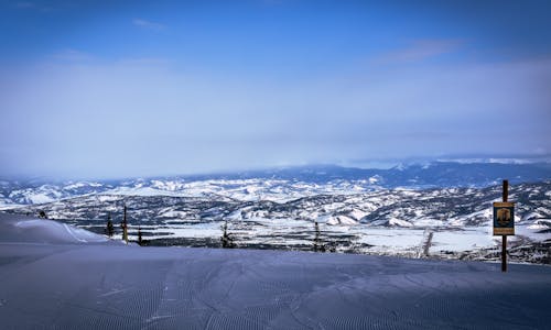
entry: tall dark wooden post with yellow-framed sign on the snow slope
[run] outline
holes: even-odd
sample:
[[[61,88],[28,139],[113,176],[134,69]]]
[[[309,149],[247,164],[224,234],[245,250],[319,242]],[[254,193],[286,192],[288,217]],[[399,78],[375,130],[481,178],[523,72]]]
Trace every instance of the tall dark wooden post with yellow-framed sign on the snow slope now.
[[[494,235],[501,235],[501,272],[507,272],[507,235],[515,234],[515,204],[508,197],[509,182],[504,180],[504,201],[494,202]]]

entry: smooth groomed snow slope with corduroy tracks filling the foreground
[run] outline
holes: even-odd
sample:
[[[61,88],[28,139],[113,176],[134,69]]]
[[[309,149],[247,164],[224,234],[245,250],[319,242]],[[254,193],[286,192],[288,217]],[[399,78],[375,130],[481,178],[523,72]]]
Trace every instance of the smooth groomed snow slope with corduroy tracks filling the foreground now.
[[[549,329],[551,267],[140,248],[0,213],[1,329]]]

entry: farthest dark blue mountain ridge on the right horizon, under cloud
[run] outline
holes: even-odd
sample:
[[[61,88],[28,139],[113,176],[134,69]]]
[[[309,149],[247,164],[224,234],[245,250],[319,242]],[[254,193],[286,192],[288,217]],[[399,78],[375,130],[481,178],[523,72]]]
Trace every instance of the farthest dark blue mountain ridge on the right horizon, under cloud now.
[[[551,178],[551,164],[431,162],[425,164],[400,164],[389,169],[344,167],[338,165],[307,165],[229,174],[193,175],[183,176],[182,178],[194,180],[277,178],[327,183],[335,179],[360,180],[374,176],[383,178],[385,188],[396,188],[398,186],[411,187],[417,185],[431,187],[483,187],[495,184],[497,180],[504,178],[509,178],[511,183],[549,179]]]

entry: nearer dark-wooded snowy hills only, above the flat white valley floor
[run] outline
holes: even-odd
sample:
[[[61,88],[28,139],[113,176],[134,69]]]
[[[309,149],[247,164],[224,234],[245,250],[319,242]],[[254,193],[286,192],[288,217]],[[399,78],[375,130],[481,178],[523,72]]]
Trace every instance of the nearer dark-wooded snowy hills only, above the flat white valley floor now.
[[[12,211],[37,213],[44,210],[53,219],[102,223],[109,213],[120,220],[120,210],[126,205],[131,210],[131,221],[144,224],[162,224],[166,220],[287,219],[327,224],[425,228],[486,224],[491,202],[500,198],[500,186],[378,189],[354,194],[318,194],[288,201],[237,199],[223,194],[181,197],[110,193],[32,205]],[[512,186],[509,198],[517,202],[517,222],[551,219],[551,182]]]

